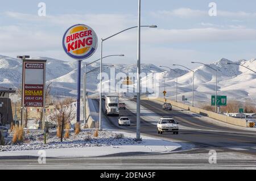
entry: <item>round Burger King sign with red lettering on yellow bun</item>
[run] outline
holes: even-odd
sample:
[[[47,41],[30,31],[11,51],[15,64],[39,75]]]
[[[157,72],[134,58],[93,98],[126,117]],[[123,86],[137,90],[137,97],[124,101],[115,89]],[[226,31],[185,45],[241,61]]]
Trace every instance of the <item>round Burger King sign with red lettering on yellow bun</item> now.
[[[97,49],[98,38],[92,28],[85,24],[69,27],[63,36],[63,48],[68,56],[86,59]]]

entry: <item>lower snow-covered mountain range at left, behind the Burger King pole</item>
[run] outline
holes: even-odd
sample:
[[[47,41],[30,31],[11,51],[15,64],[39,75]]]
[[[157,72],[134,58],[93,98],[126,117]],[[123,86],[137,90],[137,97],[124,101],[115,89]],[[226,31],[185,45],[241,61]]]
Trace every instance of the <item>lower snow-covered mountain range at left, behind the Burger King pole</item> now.
[[[33,59],[46,59],[46,81],[47,83],[52,83],[52,94],[57,94],[57,96],[75,96],[77,87],[77,62],[67,62],[63,60],[57,60],[49,57],[35,57]],[[96,62],[87,67],[87,71],[98,68],[100,66],[99,62]],[[108,74],[110,77],[110,69],[118,73],[136,73],[137,65],[126,65],[126,64],[104,64],[103,72]],[[160,73],[163,69],[158,68],[152,64],[142,64],[141,71],[148,74],[152,72]],[[176,69],[179,76],[187,73],[186,70]],[[82,62],[81,73],[85,72],[85,62]],[[97,92],[98,83],[97,79],[99,69],[92,71],[87,75],[86,85],[87,90],[90,92]],[[168,74],[168,77],[174,77],[173,73]],[[81,77],[82,78],[82,77]],[[5,87],[20,87],[22,82],[22,61],[17,58],[1,56],[0,55],[0,86]],[[81,84],[82,86],[82,84]]]

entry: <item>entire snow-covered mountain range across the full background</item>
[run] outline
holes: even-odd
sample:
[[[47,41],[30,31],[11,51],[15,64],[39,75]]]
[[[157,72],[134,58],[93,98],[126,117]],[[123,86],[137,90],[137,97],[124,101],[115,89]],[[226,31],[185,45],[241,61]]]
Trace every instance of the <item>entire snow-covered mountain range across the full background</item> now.
[[[77,86],[77,68],[76,61],[67,62],[56,60],[49,57],[36,57],[47,59],[46,79],[52,82],[52,94],[59,96],[76,95]],[[238,60],[230,61],[225,58],[209,64],[217,69],[217,88],[218,95],[227,95],[228,100],[246,100],[256,99],[256,74],[252,71],[238,65],[226,65],[227,62],[236,62],[250,69],[256,70],[256,60]],[[98,68],[99,63],[96,62],[87,67],[87,71]],[[175,69],[175,66],[172,66]],[[110,71],[118,73],[136,73],[137,65],[126,64],[104,64],[103,72],[105,76],[110,77]],[[175,69],[178,72],[178,100],[185,95],[188,101],[192,100],[192,72],[187,70]],[[85,71],[85,63],[82,63],[82,74]],[[98,74],[99,69],[87,74],[86,85],[90,92],[98,91]],[[146,74],[156,73],[160,78],[159,92],[164,90],[164,74],[165,69],[158,68],[152,64],[142,64],[141,71]],[[166,91],[167,97],[176,99],[176,74],[172,71],[166,71]],[[19,87],[22,79],[22,61],[16,58],[0,56],[0,86]],[[207,66],[199,66],[195,69],[195,102],[208,102],[210,96],[215,94],[215,71]],[[108,81],[105,81],[108,83]],[[142,79],[142,85],[146,85],[145,79]],[[81,85],[82,86],[82,85]],[[163,96],[162,93],[159,96]]]

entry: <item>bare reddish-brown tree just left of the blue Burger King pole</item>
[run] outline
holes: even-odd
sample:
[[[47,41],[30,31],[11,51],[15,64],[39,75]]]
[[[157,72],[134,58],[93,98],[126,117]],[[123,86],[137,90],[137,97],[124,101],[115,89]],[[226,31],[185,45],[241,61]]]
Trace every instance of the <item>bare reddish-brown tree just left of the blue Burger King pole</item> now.
[[[64,125],[70,124],[76,116],[76,112],[71,106],[73,102],[74,100],[71,98],[59,100],[55,105],[56,111],[49,116],[49,119],[57,124],[57,136],[60,137],[61,142],[63,141]]]

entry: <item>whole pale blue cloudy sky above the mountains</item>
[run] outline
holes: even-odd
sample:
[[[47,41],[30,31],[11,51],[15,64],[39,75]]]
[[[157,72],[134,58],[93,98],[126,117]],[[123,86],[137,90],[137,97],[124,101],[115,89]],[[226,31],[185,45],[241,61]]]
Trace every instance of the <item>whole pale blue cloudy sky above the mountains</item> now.
[[[46,16],[38,16],[38,3],[46,3]],[[210,2],[217,16],[209,16]],[[0,54],[15,57],[30,54],[74,61],[61,47],[65,30],[72,24],[92,27],[98,39],[137,25],[137,0],[94,1],[4,1],[0,6]],[[220,58],[256,58],[256,2],[142,0],[142,63],[191,68],[191,61],[205,63]],[[137,32],[127,31],[105,42],[106,63],[135,64]],[[100,48],[89,60],[100,56]]]

